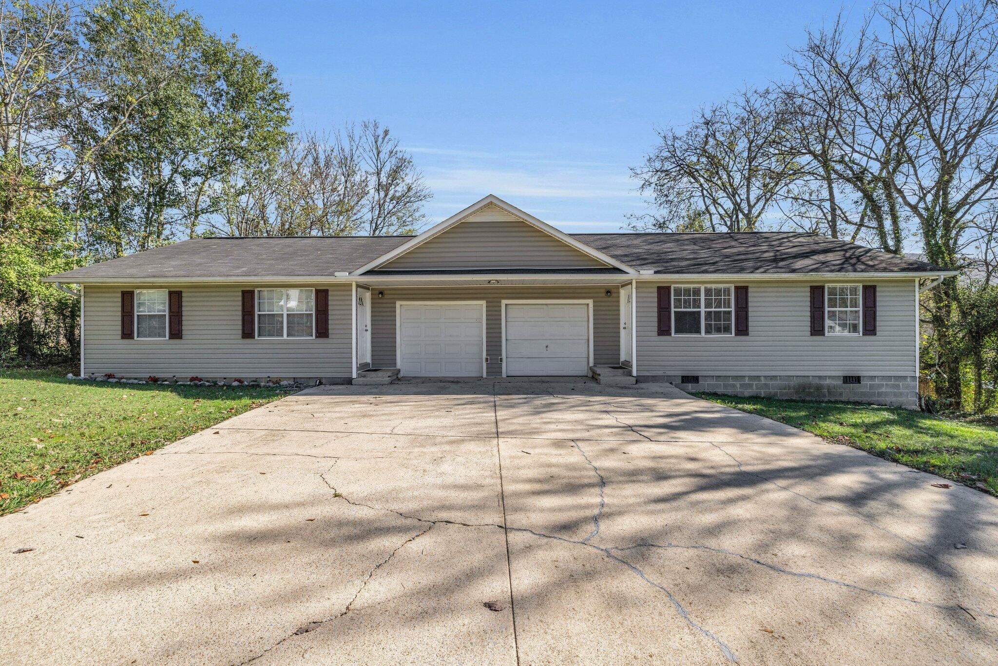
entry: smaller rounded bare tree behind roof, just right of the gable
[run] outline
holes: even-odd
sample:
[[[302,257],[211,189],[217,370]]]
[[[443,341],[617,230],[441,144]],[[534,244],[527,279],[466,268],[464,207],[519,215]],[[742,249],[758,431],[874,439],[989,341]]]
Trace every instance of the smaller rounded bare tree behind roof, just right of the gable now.
[[[635,229],[754,231],[795,165],[779,150],[784,113],[768,90],[743,91],[701,110],[685,132],[659,132],[660,144],[632,169],[658,213]]]

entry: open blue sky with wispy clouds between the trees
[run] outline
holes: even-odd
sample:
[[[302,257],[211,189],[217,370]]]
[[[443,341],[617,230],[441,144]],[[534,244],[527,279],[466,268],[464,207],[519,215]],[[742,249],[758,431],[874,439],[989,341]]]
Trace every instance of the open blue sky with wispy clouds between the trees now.
[[[278,69],[298,128],[378,119],[438,222],[492,193],[568,232],[644,210],[655,128],[785,72],[804,28],[867,2],[180,0]]]

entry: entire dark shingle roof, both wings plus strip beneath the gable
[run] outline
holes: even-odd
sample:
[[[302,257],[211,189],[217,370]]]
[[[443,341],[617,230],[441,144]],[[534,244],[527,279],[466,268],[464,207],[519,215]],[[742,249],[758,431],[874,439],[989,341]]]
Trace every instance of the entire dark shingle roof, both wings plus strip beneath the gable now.
[[[352,272],[411,236],[197,239],[52,276],[75,281],[317,278]],[[814,234],[575,234],[573,238],[627,264],[656,273],[817,274],[932,273],[929,264]],[[556,270],[523,271],[545,273]],[[619,273],[616,269],[600,269]],[[503,273],[482,270],[480,273]],[[428,271],[430,274],[461,272]],[[470,271],[465,273],[476,273]],[[564,271],[563,271],[564,273]],[[584,273],[569,271],[568,273]],[[377,271],[371,275],[399,275]],[[404,275],[416,275],[406,271]]]

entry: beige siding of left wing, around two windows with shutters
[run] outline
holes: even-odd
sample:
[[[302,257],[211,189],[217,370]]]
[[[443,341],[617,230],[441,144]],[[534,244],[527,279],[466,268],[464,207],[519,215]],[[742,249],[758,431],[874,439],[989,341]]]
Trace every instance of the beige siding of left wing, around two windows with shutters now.
[[[260,287],[329,290],[329,337],[243,339],[242,292]],[[84,363],[88,373],[162,377],[350,376],[350,285],[143,285],[135,289],[184,292],[183,339],[121,339],[121,292],[131,287],[88,286]]]

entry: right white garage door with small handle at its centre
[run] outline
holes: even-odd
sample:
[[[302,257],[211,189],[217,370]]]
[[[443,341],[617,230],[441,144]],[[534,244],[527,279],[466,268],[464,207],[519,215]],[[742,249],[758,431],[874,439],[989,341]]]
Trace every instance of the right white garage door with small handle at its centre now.
[[[506,374],[588,373],[587,304],[506,304]]]

